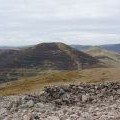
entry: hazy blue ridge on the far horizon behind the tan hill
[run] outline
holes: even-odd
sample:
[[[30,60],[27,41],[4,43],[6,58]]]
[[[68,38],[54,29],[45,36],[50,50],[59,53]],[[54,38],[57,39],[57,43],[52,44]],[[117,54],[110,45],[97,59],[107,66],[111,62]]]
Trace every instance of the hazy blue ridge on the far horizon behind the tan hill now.
[[[80,50],[80,51],[85,51],[89,49],[90,47],[94,47],[92,45],[71,45],[71,47]],[[115,52],[120,52],[120,44],[107,44],[107,45],[100,45],[98,47],[101,47],[106,50],[110,51],[115,51]]]

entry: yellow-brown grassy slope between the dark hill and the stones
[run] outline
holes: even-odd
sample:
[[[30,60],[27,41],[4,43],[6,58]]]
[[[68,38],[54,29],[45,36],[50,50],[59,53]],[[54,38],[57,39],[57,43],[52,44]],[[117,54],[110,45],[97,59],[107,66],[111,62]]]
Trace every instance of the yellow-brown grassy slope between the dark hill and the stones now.
[[[0,84],[0,95],[40,92],[44,86],[80,82],[119,81],[120,68],[95,68],[81,71],[44,71],[35,77]]]

